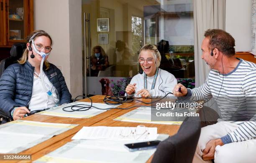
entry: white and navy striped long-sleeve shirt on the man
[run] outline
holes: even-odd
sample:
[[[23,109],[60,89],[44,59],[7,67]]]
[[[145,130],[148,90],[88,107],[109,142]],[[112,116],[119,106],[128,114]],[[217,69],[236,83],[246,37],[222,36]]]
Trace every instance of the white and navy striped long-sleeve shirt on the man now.
[[[240,59],[237,67],[228,74],[210,70],[204,84],[188,89],[192,100],[214,98],[221,119],[240,125],[223,136],[224,144],[256,138],[256,64]]]

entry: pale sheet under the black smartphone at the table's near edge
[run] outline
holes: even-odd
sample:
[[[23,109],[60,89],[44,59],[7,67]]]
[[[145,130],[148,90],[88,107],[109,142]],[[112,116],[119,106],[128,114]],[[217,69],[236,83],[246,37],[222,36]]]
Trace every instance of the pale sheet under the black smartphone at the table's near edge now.
[[[161,136],[160,136],[161,135]],[[157,140],[169,135],[159,134]],[[124,146],[139,140],[73,140],[34,163],[145,163],[156,149],[130,152]]]

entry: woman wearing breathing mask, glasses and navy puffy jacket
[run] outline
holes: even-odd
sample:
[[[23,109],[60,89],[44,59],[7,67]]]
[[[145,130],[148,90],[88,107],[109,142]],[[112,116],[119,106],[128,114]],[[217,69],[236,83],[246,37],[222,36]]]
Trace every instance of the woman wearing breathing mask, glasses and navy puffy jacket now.
[[[0,110],[13,120],[71,101],[61,71],[47,61],[52,50],[50,35],[36,30],[27,37],[26,46],[18,63],[10,65],[0,78]]]

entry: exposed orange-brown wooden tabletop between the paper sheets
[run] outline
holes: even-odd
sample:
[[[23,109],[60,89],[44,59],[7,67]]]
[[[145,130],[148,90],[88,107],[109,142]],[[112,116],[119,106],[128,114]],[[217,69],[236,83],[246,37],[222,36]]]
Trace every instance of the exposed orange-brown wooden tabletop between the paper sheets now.
[[[92,101],[94,103],[103,103],[102,99],[105,96],[102,95],[95,95],[92,97]],[[141,100],[141,99],[140,99]],[[82,100],[88,102],[89,100],[85,99]],[[149,102],[149,99],[143,99],[144,102]],[[133,101],[132,103],[124,103],[120,106],[120,108],[128,108],[134,105],[146,105],[141,102]],[[50,122],[50,123],[71,123],[71,124],[79,124],[77,127],[72,128],[64,133],[54,136],[49,140],[44,141],[38,145],[29,148],[28,150],[24,150],[20,154],[31,154],[32,161],[37,160],[38,158],[46,155],[57,148],[63,146],[64,144],[71,141],[71,138],[77,133],[83,126],[130,126],[136,127],[137,125],[143,124],[147,127],[157,127],[158,133],[165,133],[169,135],[174,135],[179,130],[179,125],[162,125],[162,124],[152,124],[152,123],[131,123],[131,122],[123,122],[113,120],[120,115],[130,112],[138,107],[122,110],[122,109],[111,109],[99,115],[96,115],[92,118],[64,118],[64,117],[54,117],[49,115],[31,115],[27,118],[23,118],[23,120],[33,120],[33,121],[40,121],[40,122]],[[151,160],[151,159],[149,159]],[[10,161],[8,161],[9,163]],[[14,161],[19,162],[19,161]],[[20,161],[23,162],[31,162],[31,161]]]

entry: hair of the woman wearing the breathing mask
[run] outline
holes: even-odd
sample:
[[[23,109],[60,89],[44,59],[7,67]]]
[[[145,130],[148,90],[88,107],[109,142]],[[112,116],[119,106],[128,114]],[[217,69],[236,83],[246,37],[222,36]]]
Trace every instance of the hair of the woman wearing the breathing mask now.
[[[36,34],[36,33],[37,33],[37,34]],[[51,45],[52,45],[52,39],[51,39],[51,36],[50,36],[48,33],[46,33],[44,30],[35,30],[35,31],[33,31],[32,33],[30,33],[30,34],[27,36],[27,38],[26,38],[26,42],[29,43],[30,46],[31,46],[31,41],[29,42],[29,40],[30,40],[31,37],[32,37],[33,35],[35,35],[35,34],[36,34],[36,36],[35,36],[33,39],[35,39],[35,38],[37,38],[37,37],[39,37],[39,36],[46,36],[46,37],[48,37],[48,38],[51,40]],[[23,65],[23,64],[26,63],[27,60],[28,60],[28,49],[26,48],[25,51],[23,52],[23,55],[22,55],[21,58],[18,60],[18,63],[20,63],[20,65]],[[46,66],[46,70],[48,70],[48,69],[50,68],[50,63],[49,63],[48,61],[44,60],[44,64],[45,64],[45,66]]]

